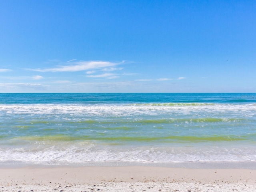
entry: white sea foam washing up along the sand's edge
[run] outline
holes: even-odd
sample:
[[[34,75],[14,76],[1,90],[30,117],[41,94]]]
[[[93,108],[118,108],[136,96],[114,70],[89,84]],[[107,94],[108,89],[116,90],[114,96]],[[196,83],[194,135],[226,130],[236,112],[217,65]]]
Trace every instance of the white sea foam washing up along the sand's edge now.
[[[1,148],[0,162],[17,161],[36,164],[86,162],[245,162],[256,161],[256,149],[246,146],[229,147],[134,147],[51,146],[38,149]]]

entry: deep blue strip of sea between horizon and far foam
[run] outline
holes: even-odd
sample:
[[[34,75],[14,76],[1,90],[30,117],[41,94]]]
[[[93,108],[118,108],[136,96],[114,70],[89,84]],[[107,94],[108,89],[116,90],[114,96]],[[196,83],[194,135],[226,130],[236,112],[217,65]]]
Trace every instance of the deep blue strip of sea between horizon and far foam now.
[[[256,93],[0,93],[0,104],[255,103]]]

